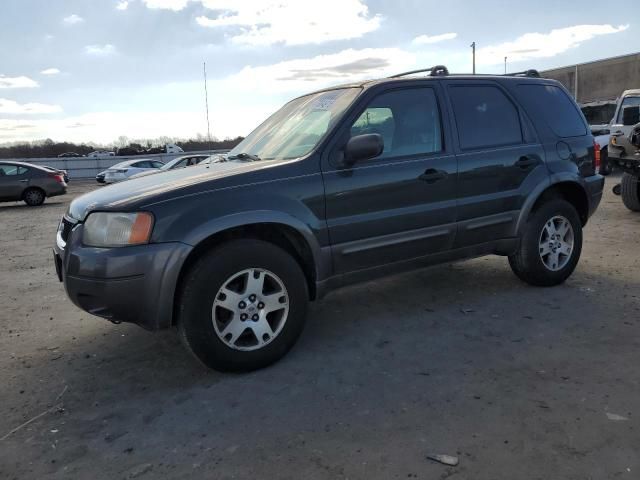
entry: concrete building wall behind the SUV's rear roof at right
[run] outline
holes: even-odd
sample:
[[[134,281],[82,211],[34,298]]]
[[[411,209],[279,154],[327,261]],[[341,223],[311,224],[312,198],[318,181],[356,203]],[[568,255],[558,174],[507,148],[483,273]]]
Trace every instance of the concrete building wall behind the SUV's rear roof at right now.
[[[540,72],[562,83],[578,103],[615,100],[640,88],[640,52]]]

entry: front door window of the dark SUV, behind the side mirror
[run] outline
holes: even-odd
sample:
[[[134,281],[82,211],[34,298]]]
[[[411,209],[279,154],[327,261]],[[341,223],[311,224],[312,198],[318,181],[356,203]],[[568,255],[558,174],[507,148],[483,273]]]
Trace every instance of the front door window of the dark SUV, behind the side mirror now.
[[[351,136],[379,133],[379,158],[442,150],[440,112],[431,88],[395,90],[376,97],[351,127]]]

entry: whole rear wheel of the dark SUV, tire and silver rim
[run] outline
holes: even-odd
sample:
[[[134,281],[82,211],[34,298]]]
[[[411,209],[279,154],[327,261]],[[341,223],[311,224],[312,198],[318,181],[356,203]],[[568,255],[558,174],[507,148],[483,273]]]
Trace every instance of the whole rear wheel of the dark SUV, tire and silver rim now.
[[[527,220],[520,249],[509,257],[513,272],[523,281],[550,287],[573,273],[582,251],[582,223],[575,207],[552,199]]]

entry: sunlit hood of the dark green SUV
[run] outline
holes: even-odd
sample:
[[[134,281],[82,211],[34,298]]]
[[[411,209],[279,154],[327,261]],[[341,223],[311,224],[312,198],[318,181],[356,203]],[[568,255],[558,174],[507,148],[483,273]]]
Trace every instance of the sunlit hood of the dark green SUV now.
[[[71,202],[68,216],[84,221],[89,213],[101,211],[129,211],[142,205],[148,205],[172,196],[197,193],[202,190],[214,190],[227,186],[231,180],[240,185],[243,181],[232,178],[246,175],[249,172],[272,167],[269,161],[259,162],[224,162],[209,165],[196,165],[162,172],[161,175],[146,175],[131,178],[125,182],[106,187],[98,187],[93,192],[82,195]],[[155,172],[154,172],[155,173]],[[206,186],[205,186],[206,184]]]

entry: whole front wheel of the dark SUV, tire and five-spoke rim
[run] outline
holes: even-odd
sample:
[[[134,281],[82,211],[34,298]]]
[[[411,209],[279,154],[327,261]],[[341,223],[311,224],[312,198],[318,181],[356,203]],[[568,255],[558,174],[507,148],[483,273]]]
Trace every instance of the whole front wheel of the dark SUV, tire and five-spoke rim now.
[[[187,274],[178,329],[206,366],[255,370],[293,346],[308,301],[306,278],[291,255],[264,241],[236,240],[206,254]]]

